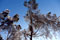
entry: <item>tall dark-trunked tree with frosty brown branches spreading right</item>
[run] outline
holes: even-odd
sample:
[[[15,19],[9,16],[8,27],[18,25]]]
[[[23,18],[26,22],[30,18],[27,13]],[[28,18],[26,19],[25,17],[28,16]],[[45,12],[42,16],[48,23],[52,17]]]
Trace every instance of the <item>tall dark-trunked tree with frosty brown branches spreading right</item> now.
[[[47,14],[39,13],[38,4],[36,0],[25,1],[28,8],[25,19],[29,21],[29,29],[32,40],[32,36],[45,36],[46,38],[52,38],[51,32],[56,32],[60,30],[60,16],[57,17],[56,14],[48,12]],[[32,26],[32,28],[30,27]],[[33,29],[33,30],[32,30]],[[52,31],[51,31],[52,30]]]

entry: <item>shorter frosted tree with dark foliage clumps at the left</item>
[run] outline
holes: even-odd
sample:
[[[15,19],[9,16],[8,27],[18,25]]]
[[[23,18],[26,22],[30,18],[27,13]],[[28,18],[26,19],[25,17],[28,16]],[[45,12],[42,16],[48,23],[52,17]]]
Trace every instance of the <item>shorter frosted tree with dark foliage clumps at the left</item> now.
[[[18,22],[19,15],[15,14],[13,17],[9,16],[10,11],[7,9],[0,13],[0,31],[7,30],[7,39],[6,40],[20,40],[21,36],[21,26],[14,24]]]

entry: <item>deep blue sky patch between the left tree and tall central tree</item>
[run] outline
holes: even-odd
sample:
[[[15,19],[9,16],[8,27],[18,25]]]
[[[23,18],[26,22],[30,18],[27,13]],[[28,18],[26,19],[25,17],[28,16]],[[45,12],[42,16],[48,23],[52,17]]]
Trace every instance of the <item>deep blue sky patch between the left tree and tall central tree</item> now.
[[[10,10],[10,16],[18,13],[20,15],[19,23],[22,27],[26,28],[26,23],[24,21],[23,16],[26,13],[26,8],[23,5],[24,0],[0,0],[0,12],[4,11],[5,9]]]

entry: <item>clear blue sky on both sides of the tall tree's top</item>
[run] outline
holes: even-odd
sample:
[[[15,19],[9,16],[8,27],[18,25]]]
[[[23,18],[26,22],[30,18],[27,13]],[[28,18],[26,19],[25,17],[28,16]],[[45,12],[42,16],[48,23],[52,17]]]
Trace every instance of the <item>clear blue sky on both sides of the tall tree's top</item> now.
[[[10,10],[10,16],[18,13],[20,15],[19,23],[22,28],[27,28],[27,24],[24,21],[23,16],[26,14],[27,8],[23,5],[24,0],[0,0],[0,12],[5,9]],[[42,14],[47,14],[48,12],[52,12],[52,14],[56,13],[57,16],[60,15],[60,0],[37,0],[39,4],[38,9],[40,9]]]

